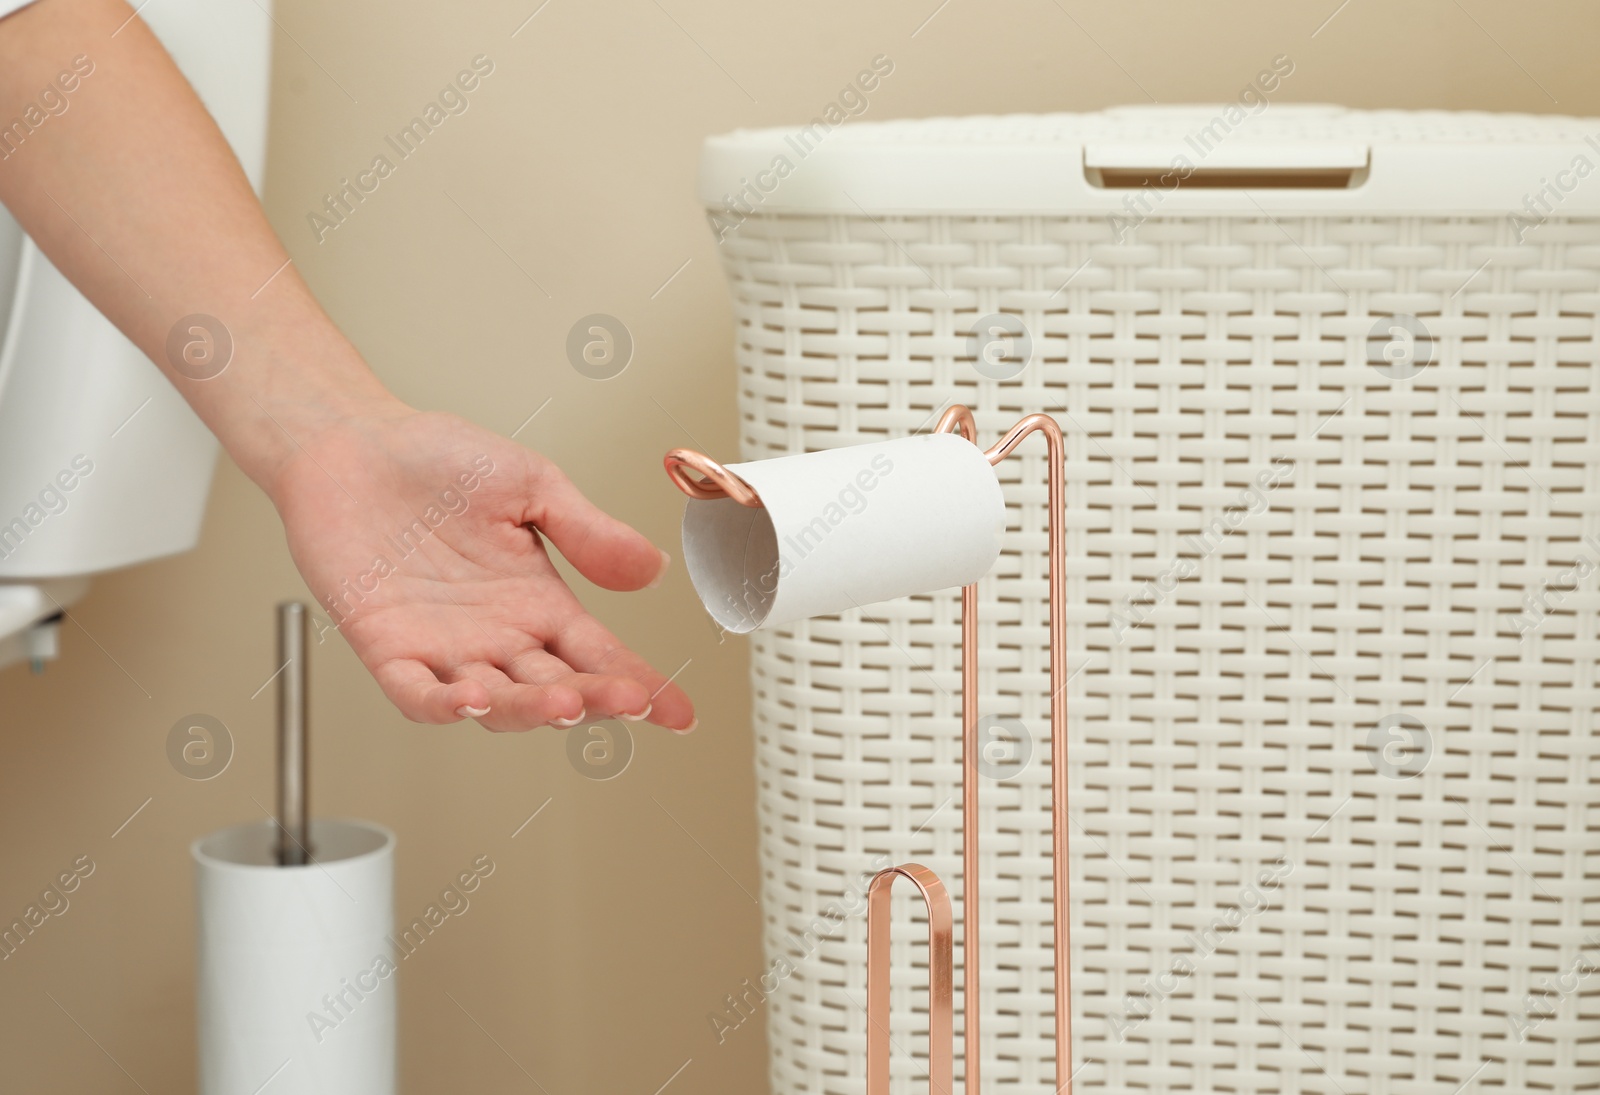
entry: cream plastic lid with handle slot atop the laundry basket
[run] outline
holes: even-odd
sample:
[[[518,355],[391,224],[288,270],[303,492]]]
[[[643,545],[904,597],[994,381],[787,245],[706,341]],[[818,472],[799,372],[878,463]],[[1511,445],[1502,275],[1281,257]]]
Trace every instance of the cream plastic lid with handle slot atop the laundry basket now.
[[[832,104],[830,104],[832,106]],[[837,122],[835,122],[837,118]],[[858,122],[706,141],[734,215],[1600,215],[1600,118],[1325,104]]]

